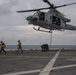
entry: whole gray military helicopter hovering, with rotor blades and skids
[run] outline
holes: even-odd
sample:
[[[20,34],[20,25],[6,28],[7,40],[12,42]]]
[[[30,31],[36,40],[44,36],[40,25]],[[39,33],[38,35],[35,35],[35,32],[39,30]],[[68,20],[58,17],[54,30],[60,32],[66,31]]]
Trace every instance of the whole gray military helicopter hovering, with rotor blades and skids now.
[[[76,30],[76,26],[67,24],[71,20],[66,18],[62,13],[56,10],[57,8],[60,8],[60,7],[76,4],[76,2],[70,3],[70,4],[64,4],[60,6],[54,6],[54,4],[51,4],[48,0],[43,0],[43,1],[49,4],[49,7],[31,9],[31,10],[22,10],[17,12],[24,13],[24,12],[36,11],[33,15],[28,16],[26,20],[28,21],[29,24],[38,26],[38,29],[33,28],[37,31],[51,32],[52,30]],[[40,11],[40,10],[46,10],[46,9],[49,9],[49,11],[48,12]],[[49,31],[41,30],[40,28],[49,29]]]

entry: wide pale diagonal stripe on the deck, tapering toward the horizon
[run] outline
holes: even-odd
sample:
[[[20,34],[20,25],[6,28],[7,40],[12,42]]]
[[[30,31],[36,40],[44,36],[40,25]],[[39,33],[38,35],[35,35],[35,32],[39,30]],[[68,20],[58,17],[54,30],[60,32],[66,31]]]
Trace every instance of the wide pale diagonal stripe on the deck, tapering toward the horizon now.
[[[43,69],[43,71],[40,72],[39,75],[49,75],[49,73],[50,73],[50,71],[52,70],[53,65],[54,65],[56,59],[58,58],[58,55],[59,55],[59,53],[60,53],[61,50],[62,50],[62,49],[60,49],[60,50],[56,53],[56,55],[50,60],[50,62],[45,66],[45,68]]]

